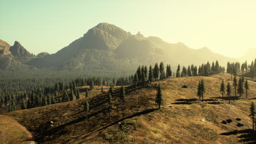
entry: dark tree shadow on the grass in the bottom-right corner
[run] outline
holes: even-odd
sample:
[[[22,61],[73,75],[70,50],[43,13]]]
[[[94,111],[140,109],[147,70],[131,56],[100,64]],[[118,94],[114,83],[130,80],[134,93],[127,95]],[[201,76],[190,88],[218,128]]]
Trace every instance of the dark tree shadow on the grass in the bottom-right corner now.
[[[246,142],[246,143],[256,143],[256,132],[253,131],[252,129],[245,129],[245,130],[234,130],[234,131],[229,131],[228,133],[222,133],[220,135],[237,135],[241,134],[240,136],[237,136],[241,140],[239,142]]]

